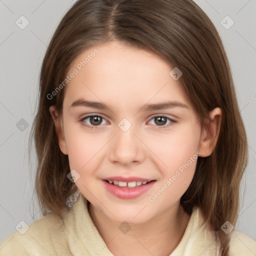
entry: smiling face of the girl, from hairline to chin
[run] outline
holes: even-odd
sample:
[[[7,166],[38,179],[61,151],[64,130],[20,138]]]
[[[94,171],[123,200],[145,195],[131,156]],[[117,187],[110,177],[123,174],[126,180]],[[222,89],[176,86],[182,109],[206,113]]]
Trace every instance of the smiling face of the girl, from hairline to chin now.
[[[142,223],[179,205],[205,154],[206,137],[172,68],[112,41],[87,48],[68,71],[75,74],[55,119],[59,146],[79,190],[113,221]]]

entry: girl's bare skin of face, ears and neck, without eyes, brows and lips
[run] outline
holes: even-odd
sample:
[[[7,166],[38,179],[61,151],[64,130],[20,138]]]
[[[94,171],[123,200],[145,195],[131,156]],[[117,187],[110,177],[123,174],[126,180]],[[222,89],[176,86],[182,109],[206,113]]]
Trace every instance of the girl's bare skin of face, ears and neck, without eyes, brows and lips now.
[[[79,173],[75,184],[90,201],[92,221],[114,255],[169,255],[190,218],[180,205],[180,197],[193,178],[196,161],[154,202],[148,197],[196,151],[201,157],[211,154],[219,134],[221,109],[210,111],[212,122],[205,122],[201,129],[179,80],[169,75],[173,67],[155,54],[118,41],[87,48],[74,59],[69,72],[94,48],[99,52],[65,87],[62,115],[54,106],[49,109],[59,147],[68,155],[70,170]],[[104,102],[109,109],[70,107],[78,98]],[[140,109],[146,103],[167,100],[179,101],[187,108]],[[79,120],[91,113],[103,119],[99,125],[84,119],[92,128],[85,127]],[[153,118],[156,114],[176,122],[167,126],[171,121],[165,119],[160,125]],[[131,124],[127,131],[118,126],[124,117]],[[114,175],[156,182],[136,198],[120,199],[102,185],[102,178]],[[123,221],[131,227],[127,233],[118,228]]]

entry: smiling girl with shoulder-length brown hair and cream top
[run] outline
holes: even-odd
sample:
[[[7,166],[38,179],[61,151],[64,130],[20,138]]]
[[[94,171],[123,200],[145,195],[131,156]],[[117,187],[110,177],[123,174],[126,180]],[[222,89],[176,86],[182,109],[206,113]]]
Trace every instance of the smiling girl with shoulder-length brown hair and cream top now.
[[[192,0],[78,0],[40,72],[43,217],[0,255],[255,255],[234,230],[247,141],[216,29]]]

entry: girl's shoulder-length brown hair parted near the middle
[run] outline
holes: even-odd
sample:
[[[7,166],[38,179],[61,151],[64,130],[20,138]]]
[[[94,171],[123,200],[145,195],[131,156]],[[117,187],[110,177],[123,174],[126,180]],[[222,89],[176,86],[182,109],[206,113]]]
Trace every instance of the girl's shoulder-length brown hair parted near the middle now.
[[[217,144],[208,157],[198,157],[193,180],[181,197],[191,213],[198,205],[228,255],[230,236],[221,230],[236,223],[239,183],[247,164],[247,140],[229,64],[221,39],[207,15],[192,0],[78,0],[67,11],[48,45],[40,71],[39,103],[29,142],[37,153],[35,189],[43,215],[61,209],[77,187],[70,182],[68,156],[58,146],[49,106],[62,113],[60,84],[72,60],[85,48],[118,40],[146,49],[177,66],[182,88],[203,127],[208,111],[222,109]]]

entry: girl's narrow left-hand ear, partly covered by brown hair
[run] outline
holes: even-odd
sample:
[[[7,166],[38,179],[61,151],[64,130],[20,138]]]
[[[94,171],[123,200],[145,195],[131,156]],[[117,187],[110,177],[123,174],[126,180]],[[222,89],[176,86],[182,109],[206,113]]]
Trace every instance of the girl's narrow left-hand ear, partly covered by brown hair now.
[[[58,145],[63,154],[67,154],[66,142],[64,137],[64,129],[61,116],[57,113],[55,106],[50,106],[49,111],[54,122]]]

